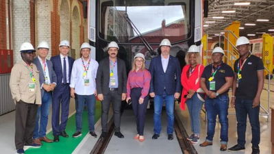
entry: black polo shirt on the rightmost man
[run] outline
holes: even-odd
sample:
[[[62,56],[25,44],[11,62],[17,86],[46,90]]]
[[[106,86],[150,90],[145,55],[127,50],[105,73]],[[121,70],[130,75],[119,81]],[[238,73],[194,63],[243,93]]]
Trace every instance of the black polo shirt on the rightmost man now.
[[[238,62],[240,58],[234,63],[234,72],[238,73]],[[243,61],[241,62],[241,64]],[[251,55],[242,66],[242,79],[239,80],[238,88],[236,88],[235,96],[240,99],[254,99],[258,90],[258,74],[257,72],[264,70],[264,64],[260,57]]]

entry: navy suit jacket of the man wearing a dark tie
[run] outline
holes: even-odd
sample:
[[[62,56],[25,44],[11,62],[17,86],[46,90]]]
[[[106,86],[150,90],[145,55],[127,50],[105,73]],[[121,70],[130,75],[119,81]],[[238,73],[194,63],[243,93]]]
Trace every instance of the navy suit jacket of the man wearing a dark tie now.
[[[69,81],[71,81],[71,70],[73,69],[74,59],[72,57],[69,57],[69,55],[68,55],[68,59],[69,59]],[[60,55],[55,55],[54,57],[51,57],[51,62],[53,64],[53,70],[57,77],[57,82],[56,82],[57,85],[53,92],[57,92],[62,85],[62,79],[63,79],[63,69],[62,69],[62,62],[61,62]]]

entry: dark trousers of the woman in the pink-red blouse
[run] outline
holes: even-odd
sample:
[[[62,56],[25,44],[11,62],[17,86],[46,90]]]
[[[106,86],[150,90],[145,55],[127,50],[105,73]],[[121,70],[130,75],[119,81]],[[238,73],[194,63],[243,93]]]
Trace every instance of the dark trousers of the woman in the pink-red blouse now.
[[[145,127],[145,114],[147,113],[147,103],[149,103],[149,95],[145,97],[142,104],[139,103],[141,97],[142,88],[132,88],[130,96],[132,98],[132,109],[135,114],[135,120],[137,125],[137,133],[140,136],[144,135]]]

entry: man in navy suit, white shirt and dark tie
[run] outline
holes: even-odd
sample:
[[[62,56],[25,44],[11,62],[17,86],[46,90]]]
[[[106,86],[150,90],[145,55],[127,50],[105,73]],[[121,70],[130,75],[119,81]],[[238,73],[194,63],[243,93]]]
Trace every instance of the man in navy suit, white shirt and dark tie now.
[[[51,57],[53,70],[57,76],[57,86],[53,90],[51,120],[54,142],[59,142],[59,136],[63,136],[64,138],[69,137],[65,129],[69,117],[69,101],[71,99],[69,83],[71,81],[71,70],[74,62],[74,59],[68,55],[69,48],[69,41],[62,40],[59,44],[60,55]],[[59,124],[60,103],[62,105],[61,124]]]

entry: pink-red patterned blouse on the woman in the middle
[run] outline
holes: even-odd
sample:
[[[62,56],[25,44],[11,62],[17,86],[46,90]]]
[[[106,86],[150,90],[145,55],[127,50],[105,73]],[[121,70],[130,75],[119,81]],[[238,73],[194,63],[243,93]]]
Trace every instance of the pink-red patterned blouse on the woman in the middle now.
[[[151,75],[149,70],[130,70],[129,76],[127,79],[127,97],[130,97],[130,92],[132,88],[142,88],[140,98],[144,99],[147,94],[149,94]]]

